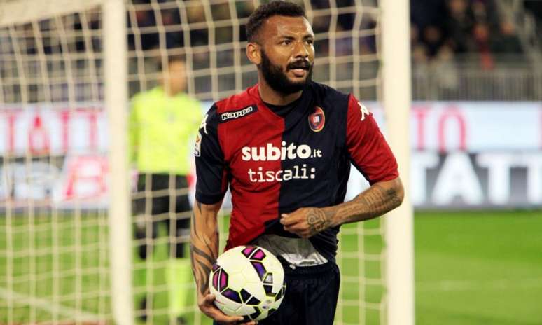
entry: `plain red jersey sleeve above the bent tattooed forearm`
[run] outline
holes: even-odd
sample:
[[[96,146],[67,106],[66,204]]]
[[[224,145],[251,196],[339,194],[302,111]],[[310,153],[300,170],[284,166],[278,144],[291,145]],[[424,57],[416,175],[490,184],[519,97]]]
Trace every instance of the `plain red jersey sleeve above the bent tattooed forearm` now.
[[[397,161],[378,125],[366,107],[350,95],[346,146],[352,164],[369,184],[391,181],[399,176]]]

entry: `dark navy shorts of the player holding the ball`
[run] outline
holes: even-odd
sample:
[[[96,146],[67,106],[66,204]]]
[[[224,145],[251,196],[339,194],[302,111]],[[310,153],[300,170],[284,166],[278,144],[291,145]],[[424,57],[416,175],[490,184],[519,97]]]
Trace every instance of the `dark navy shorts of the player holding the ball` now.
[[[337,264],[328,262],[295,270],[284,264],[284,272],[284,300],[279,310],[258,324],[333,325],[340,286]]]

